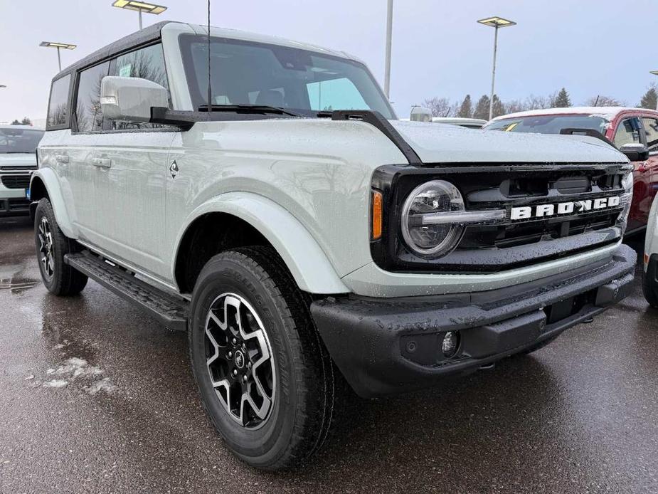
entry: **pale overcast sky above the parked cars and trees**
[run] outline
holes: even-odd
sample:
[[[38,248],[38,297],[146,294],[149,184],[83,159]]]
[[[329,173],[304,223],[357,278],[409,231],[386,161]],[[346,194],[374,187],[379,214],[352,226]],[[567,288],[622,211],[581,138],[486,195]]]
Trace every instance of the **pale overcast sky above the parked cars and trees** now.
[[[162,0],[144,14],[206,22],[206,0]],[[137,13],[111,0],[0,0],[0,121],[45,117],[54,48],[75,43],[62,64],[126,36]],[[212,0],[213,26],[283,36],[362,58],[383,85],[386,0]],[[565,86],[574,104],[609,95],[635,106],[658,69],[655,0],[395,0],[391,100],[398,116],[425,98],[474,100],[489,93],[493,29],[475,21],[498,15],[518,23],[499,36],[497,93],[502,100],[547,95]]]

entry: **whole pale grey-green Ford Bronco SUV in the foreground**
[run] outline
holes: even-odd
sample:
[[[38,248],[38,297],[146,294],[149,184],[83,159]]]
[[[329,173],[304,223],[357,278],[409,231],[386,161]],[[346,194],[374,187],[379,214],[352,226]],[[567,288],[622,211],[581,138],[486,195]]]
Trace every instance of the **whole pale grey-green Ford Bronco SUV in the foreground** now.
[[[38,158],[43,283],[187,330],[259,468],[317,451],[339,379],[371,398],[531,352],[635,268],[605,142],[400,122],[364,63],[278,38],[169,22],[102,48],[53,79]]]

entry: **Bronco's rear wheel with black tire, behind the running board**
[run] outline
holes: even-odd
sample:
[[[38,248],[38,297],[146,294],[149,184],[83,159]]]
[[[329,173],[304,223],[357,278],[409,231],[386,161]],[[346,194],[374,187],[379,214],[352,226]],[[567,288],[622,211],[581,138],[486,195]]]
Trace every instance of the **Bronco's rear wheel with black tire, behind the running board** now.
[[[55,295],[77,295],[85,285],[87,276],[64,263],[64,256],[78,250],[78,244],[60,230],[53,206],[41,199],[34,214],[34,241],[41,280]]]

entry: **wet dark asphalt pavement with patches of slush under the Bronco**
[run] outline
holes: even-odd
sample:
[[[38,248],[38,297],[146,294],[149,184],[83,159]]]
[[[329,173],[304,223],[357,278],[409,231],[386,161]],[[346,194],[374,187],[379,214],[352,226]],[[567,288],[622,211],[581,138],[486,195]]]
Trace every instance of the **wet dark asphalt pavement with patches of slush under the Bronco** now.
[[[28,219],[0,219],[0,493],[658,492],[658,311],[637,282],[532,356],[348,400],[309,466],[272,474],[213,431],[186,335],[38,278]]]

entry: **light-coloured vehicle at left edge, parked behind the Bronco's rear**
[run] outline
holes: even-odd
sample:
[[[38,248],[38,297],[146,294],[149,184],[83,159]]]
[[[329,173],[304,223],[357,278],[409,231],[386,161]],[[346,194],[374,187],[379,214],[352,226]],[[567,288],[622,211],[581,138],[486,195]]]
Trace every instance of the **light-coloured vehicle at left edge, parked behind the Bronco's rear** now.
[[[0,125],[0,217],[28,214],[30,177],[43,130],[29,125]]]

